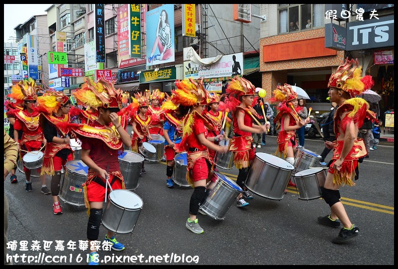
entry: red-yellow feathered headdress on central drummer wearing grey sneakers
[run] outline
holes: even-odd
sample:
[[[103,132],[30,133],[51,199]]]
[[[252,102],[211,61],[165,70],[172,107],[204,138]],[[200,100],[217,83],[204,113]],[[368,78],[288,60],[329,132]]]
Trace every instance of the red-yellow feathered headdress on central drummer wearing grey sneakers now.
[[[208,104],[208,94],[203,87],[203,78],[194,80],[176,80],[177,90],[173,91],[172,102],[186,107]]]

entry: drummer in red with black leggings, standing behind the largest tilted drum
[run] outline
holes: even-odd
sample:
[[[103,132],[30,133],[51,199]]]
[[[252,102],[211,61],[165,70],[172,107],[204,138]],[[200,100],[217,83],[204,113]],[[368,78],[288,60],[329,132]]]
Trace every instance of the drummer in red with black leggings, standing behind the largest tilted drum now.
[[[229,94],[227,106],[232,112],[234,128],[234,135],[229,141],[228,150],[233,152],[234,165],[239,169],[236,184],[243,190],[236,198],[237,207],[249,205],[244,198],[253,199],[253,195],[249,193],[245,186],[249,166],[255,157],[252,133],[263,134],[267,132],[266,125],[253,124],[253,119],[250,116],[252,114],[258,119],[261,118],[252,107],[257,102],[257,100],[254,100],[255,91],[256,87],[242,77],[232,79],[226,88],[226,92]]]

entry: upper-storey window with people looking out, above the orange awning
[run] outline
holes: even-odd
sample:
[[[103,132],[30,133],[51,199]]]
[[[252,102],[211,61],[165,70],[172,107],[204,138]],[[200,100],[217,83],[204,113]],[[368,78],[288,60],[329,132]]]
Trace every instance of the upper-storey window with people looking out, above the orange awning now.
[[[323,27],[324,4],[278,4],[279,33]]]

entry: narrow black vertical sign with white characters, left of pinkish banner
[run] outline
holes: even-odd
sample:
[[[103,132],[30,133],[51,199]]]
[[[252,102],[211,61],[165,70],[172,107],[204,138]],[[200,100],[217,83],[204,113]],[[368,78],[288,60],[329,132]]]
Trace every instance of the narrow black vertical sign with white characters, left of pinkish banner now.
[[[96,42],[96,62],[105,62],[105,8],[104,4],[95,4],[95,42]]]

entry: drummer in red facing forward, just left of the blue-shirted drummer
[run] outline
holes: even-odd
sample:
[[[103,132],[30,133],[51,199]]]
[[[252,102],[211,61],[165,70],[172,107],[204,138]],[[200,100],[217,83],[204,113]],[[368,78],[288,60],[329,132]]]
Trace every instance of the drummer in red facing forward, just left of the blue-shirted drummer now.
[[[145,115],[151,118],[149,125],[150,134],[163,135],[163,124],[165,123],[164,111],[161,109],[161,101],[165,98],[165,93],[155,89],[150,96],[151,104],[148,106],[148,110]]]

